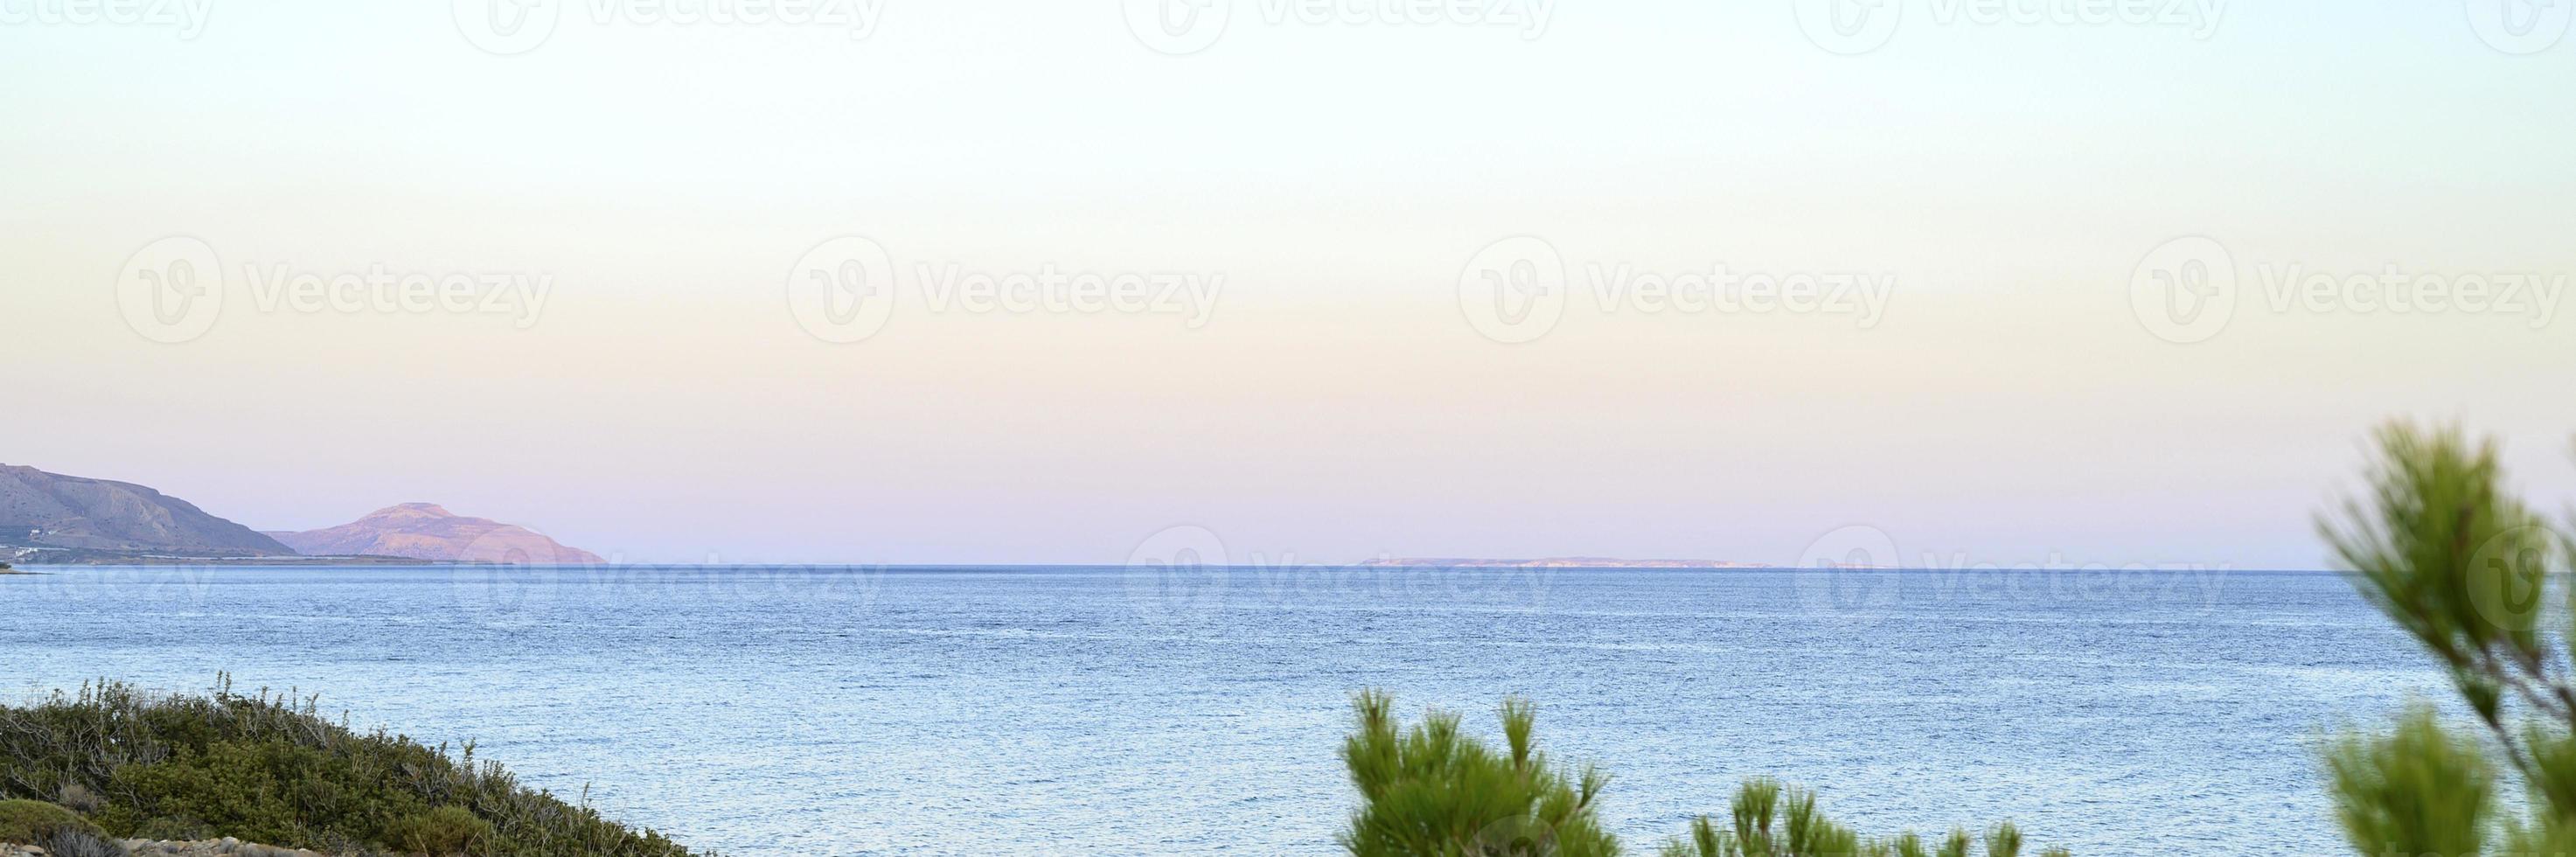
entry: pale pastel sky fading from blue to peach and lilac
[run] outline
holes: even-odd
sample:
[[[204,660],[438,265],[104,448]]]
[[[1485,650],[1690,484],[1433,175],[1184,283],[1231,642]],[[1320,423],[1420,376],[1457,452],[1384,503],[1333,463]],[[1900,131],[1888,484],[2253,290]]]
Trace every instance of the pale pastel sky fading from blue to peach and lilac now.
[[[726,564],[2313,569],[2388,417],[2576,507],[2566,3],[1157,3],[0,0],[0,461]]]

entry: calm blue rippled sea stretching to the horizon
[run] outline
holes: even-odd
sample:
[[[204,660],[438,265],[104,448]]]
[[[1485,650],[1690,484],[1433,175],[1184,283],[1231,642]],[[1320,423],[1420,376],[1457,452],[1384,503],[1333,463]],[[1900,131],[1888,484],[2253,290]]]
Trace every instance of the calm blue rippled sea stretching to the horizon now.
[[[0,692],[319,692],[729,854],[1327,854],[1347,697],[1525,695],[1654,844],[1734,782],[1865,831],[2334,854],[2311,746],[2439,677],[2334,574],[52,569]]]

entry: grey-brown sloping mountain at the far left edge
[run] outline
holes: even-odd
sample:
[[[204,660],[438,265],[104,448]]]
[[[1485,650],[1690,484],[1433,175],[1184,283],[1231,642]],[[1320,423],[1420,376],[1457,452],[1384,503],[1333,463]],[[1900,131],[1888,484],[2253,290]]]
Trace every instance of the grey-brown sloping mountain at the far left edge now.
[[[0,463],[0,543],[26,548],[294,556],[276,538],[162,492]]]

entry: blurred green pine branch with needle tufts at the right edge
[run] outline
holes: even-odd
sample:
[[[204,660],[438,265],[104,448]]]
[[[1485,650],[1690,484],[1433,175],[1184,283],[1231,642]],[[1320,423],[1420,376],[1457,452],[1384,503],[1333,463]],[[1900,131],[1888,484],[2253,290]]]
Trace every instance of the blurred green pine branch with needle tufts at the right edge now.
[[[2344,839],[2360,854],[2576,854],[2576,592],[2553,587],[2576,540],[2504,489],[2491,440],[2414,425],[2375,435],[2365,497],[2318,530],[2476,721],[2447,728],[2419,705],[2329,741]],[[2514,785],[2519,800],[2499,795]]]

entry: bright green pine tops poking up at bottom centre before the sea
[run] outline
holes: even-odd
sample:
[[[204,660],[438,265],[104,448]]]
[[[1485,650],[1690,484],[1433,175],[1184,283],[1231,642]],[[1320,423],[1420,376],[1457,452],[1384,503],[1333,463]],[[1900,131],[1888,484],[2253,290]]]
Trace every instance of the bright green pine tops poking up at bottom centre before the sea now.
[[[1399,728],[1394,700],[1360,692],[1358,728],[1342,739],[1342,764],[1360,808],[1340,834],[1355,857],[1607,857],[1620,842],[1600,826],[1595,803],[1610,785],[1600,769],[1548,764],[1535,746],[1535,710],[1502,703],[1502,749],[1466,736],[1458,715],[1432,710]],[[1747,780],[1723,821],[1700,816],[1664,857],[2020,857],[2012,824],[1971,839],[1950,831],[1937,847],[1917,834],[1860,836],[1816,808],[1816,793],[1780,780]],[[2063,857],[2063,849],[2045,854]]]

